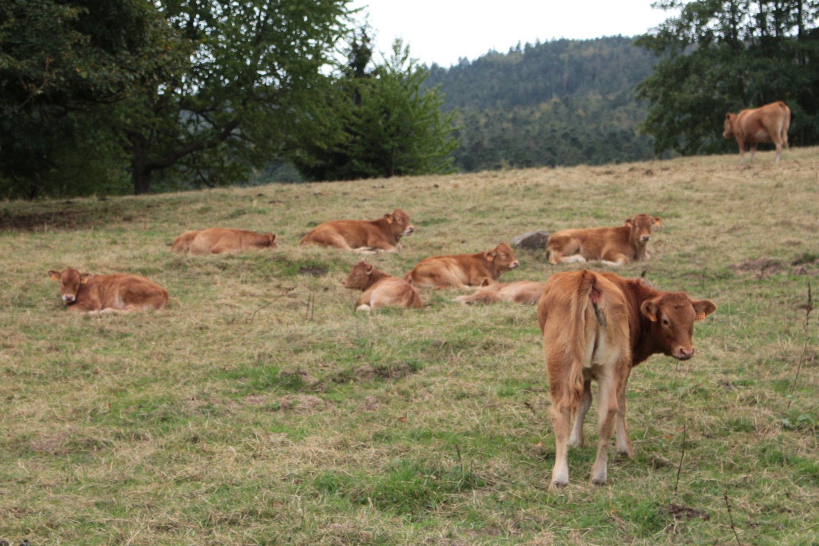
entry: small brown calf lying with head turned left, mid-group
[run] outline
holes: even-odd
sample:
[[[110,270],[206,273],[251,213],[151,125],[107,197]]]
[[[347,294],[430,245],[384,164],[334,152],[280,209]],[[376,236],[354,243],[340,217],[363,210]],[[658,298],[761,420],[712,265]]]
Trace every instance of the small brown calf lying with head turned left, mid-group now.
[[[345,288],[359,289],[364,294],[355,300],[356,311],[370,311],[379,307],[423,307],[418,290],[404,279],[378,271],[363,259],[352,268],[342,281]]]

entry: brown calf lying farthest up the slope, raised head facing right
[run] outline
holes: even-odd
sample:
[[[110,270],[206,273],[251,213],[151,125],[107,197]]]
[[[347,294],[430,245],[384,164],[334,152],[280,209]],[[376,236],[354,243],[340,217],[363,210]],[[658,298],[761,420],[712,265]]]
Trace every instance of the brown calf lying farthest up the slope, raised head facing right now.
[[[415,231],[409,214],[396,209],[377,220],[336,220],[319,223],[313,231],[301,239],[301,246],[335,246],[358,252],[400,250],[398,241]]]

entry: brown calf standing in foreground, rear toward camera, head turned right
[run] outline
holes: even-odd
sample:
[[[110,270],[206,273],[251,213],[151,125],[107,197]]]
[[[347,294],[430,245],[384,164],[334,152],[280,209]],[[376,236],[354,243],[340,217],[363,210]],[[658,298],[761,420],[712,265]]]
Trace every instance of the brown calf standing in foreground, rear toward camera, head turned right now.
[[[618,453],[630,457],[626,429],[626,383],[631,368],[652,354],[694,356],[694,321],[717,310],[709,300],[661,292],[641,279],[587,270],[553,275],[537,308],[552,398],[555,462],[550,489],[568,485],[568,446],[583,444],[583,418],[598,382],[597,458],[591,482],[607,480],[607,448],[617,427]],[[579,405],[579,408],[578,408]],[[577,409],[573,430],[571,416]]]

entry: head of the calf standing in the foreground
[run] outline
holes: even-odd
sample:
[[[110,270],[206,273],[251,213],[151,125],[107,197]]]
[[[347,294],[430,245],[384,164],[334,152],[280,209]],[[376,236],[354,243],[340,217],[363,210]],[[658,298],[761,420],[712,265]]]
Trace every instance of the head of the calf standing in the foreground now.
[[[694,356],[694,321],[716,310],[711,300],[690,300],[684,292],[663,292],[640,305],[640,313],[651,321],[649,336],[658,350],[678,360]]]

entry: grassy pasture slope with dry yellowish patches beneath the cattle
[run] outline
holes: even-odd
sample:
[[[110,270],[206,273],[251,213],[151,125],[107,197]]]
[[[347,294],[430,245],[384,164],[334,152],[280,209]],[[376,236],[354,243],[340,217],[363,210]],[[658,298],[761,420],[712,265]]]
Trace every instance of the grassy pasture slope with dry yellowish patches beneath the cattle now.
[[[816,311],[789,399],[809,278],[790,263],[819,254],[817,152],[2,203],[0,539],[736,544],[727,493],[741,544],[819,544]],[[356,315],[341,280],[360,256],[296,246],[314,223],[396,206],[417,231],[400,255],[369,259],[399,277],[424,256],[536,228],[663,217],[650,261],[618,272],[645,269],[719,309],[695,324],[695,359],[654,356],[632,373],[636,456],[611,452],[609,485],[587,483],[590,413],[571,485],[546,490],[554,436],[535,308],[464,307],[446,290],[423,291],[424,309]],[[272,231],[280,248],[165,246],[210,226]],[[763,256],[785,267],[728,268]],[[518,259],[502,281],[578,267]],[[170,305],[67,314],[45,274],[66,266],[146,275]]]

